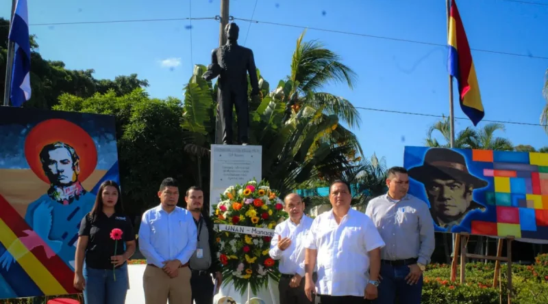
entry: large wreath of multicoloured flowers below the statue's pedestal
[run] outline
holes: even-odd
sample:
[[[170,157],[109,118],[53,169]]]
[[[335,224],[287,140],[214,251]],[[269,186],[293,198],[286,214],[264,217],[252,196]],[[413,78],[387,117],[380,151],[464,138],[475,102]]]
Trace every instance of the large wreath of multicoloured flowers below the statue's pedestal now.
[[[287,218],[284,202],[264,180],[230,186],[214,208],[217,224],[257,227],[272,232],[277,223]],[[216,233],[216,242],[219,243],[217,258],[223,269],[223,284],[232,282],[234,289],[243,295],[248,286],[255,294],[266,288],[269,277],[279,281],[278,262],[269,256],[270,236],[221,230]]]

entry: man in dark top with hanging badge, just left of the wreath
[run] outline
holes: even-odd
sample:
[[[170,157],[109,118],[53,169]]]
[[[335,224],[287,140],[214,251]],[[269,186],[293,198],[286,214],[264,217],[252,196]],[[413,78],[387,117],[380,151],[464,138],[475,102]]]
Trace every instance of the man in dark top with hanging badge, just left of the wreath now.
[[[223,282],[221,265],[216,258],[219,249],[215,241],[213,221],[202,214],[203,191],[199,187],[191,186],[186,191],[184,200],[198,230],[197,248],[190,257],[192,301],[196,304],[212,304],[215,290],[211,276],[214,276],[218,288],[221,288]]]

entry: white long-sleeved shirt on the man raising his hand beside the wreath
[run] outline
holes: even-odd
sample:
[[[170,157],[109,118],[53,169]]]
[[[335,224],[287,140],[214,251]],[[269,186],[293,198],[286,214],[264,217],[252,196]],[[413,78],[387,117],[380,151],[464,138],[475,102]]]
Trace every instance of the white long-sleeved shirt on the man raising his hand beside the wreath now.
[[[286,219],[276,225],[274,236],[271,240],[269,255],[274,260],[279,260],[279,272],[286,275],[295,275],[298,273],[304,277],[304,243],[312,219],[303,215],[299,224],[295,224],[291,219]],[[278,236],[281,238],[290,238],[291,244],[285,250],[278,248]]]

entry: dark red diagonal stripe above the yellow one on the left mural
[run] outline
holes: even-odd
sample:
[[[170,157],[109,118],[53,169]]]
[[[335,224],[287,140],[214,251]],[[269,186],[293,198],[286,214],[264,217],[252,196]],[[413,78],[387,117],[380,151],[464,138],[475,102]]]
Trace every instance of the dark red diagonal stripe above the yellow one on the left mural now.
[[[25,230],[31,230],[25,219],[18,214],[18,212],[13,208],[12,205],[0,195],[0,217],[5,222],[8,227],[14,232],[17,237],[26,236]],[[5,244],[5,247],[10,246]],[[59,281],[61,286],[69,294],[77,293],[77,290],[74,289],[74,272],[65,262],[59,257],[59,255],[54,255],[51,258],[47,258],[46,253],[42,247],[36,247],[32,249],[32,254],[36,256],[38,261],[40,261],[47,270]]]

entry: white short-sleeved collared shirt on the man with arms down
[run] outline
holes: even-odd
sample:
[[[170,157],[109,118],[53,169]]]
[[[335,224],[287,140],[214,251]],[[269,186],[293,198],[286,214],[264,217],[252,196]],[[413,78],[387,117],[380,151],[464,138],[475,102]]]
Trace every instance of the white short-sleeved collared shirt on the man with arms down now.
[[[337,224],[333,210],[314,219],[306,248],[316,250],[316,293],[364,296],[369,281],[369,251],[384,247],[373,221],[349,209]]]

